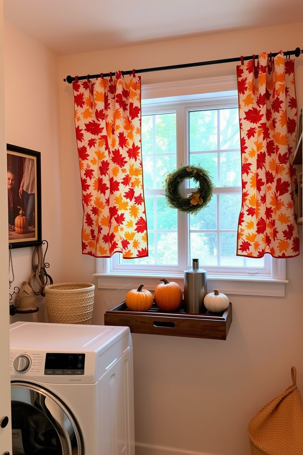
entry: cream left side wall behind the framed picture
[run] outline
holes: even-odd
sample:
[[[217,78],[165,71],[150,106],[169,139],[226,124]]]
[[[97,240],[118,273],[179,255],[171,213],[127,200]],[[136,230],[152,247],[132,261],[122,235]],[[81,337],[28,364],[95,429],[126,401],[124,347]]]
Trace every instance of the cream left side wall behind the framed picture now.
[[[62,188],[60,163],[58,57],[39,42],[5,22],[5,111],[6,142],[41,154],[42,239],[49,243],[48,273],[61,279]],[[21,286],[33,273],[34,248],[12,250],[14,286]],[[40,308],[31,315],[15,315],[16,320],[44,321],[44,298],[36,298]]]

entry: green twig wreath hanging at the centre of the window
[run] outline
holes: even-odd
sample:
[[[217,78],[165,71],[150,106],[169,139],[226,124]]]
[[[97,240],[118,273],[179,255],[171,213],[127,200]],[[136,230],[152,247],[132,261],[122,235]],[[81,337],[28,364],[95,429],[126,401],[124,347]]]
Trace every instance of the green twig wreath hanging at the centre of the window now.
[[[181,183],[192,178],[199,187],[189,197],[182,197],[179,192]],[[169,207],[180,212],[197,213],[201,208],[207,207],[213,195],[214,184],[209,172],[203,167],[182,166],[171,172],[165,180],[165,197]]]

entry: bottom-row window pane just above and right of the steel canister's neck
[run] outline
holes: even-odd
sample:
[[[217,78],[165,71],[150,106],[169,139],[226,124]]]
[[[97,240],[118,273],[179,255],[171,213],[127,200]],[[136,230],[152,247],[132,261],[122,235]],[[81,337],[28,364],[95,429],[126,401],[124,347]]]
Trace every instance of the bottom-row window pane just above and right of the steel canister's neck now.
[[[190,233],[190,262],[198,258],[200,267],[217,265],[217,234]]]

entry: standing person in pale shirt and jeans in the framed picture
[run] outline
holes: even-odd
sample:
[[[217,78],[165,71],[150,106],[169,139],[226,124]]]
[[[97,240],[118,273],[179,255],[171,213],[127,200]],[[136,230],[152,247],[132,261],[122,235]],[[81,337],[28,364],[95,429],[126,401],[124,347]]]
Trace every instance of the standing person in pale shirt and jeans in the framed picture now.
[[[35,227],[35,161],[32,158],[23,158],[23,177],[19,197],[20,199],[23,197],[28,226]]]

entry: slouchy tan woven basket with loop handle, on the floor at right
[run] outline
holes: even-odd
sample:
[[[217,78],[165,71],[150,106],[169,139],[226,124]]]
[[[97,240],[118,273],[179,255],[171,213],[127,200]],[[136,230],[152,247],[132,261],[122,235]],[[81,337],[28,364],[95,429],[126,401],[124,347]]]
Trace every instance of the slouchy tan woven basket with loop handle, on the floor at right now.
[[[303,402],[297,373],[291,368],[293,385],[266,404],[249,422],[252,455],[303,454]]]

